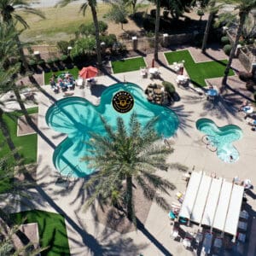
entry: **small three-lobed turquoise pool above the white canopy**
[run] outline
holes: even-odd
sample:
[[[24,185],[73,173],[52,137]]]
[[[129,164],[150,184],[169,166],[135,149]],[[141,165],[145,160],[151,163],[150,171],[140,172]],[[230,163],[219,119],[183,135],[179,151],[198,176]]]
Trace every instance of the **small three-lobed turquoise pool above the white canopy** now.
[[[225,125],[218,127],[211,119],[198,119],[196,121],[197,130],[207,136],[212,148],[217,149],[220,160],[231,163],[239,159],[239,152],[233,142],[241,139],[242,131],[237,125]]]

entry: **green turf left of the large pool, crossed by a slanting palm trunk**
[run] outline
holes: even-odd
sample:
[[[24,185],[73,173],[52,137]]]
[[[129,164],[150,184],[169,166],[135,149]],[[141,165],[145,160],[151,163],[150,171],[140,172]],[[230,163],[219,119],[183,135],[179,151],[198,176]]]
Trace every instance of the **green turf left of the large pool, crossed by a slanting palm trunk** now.
[[[28,113],[38,113],[38,108],[28,108]],[[15,143],[15,147],[18,148],[20,155],[24,159],[25,164],[35,163],[37,161],[37,134],[25,135],[17,137],[17,122],[18,117],[22,115],[20,111],[15,111],[9,116],[7,113],[3,114],[3,120],[5,121],[10,137]],[[3,143],[3,149],[0,151],[0,158],[6,154],[9,154],[9,147],[5,142],[2,131],[0,131],[0,142]]]

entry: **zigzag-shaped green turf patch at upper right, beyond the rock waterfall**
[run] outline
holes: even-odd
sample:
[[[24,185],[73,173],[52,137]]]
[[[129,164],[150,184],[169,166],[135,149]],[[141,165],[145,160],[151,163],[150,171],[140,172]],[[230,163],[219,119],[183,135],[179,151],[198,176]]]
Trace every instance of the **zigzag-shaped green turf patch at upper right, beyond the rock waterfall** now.
[[[224,70],[226,68],[227,60],[221,61],[206,61],[195,63],[189,50],[178,50],[174,52],[165,53],[168,64],[173,62],[184,62],[184,67],[189,74],[190,81],[196,86],[207,86],[205,79],[214,79],[224,76]],[[229,76],[234,75],[232,69],[230,69]]]

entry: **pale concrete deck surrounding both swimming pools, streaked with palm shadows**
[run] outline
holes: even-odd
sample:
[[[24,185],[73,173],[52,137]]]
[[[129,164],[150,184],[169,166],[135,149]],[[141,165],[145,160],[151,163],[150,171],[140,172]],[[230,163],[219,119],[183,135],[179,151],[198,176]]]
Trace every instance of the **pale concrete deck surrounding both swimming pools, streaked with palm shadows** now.
[[[176,84],[177,75],[172,73],[168,67],[160,67],[160,76],[162,79]],[[124,78],[126,81],[140,85],[143,90],[150,83],[161,83],[159,79],[143,79],[140,76],[140,71],[120,73],[98,77],[97,85],[91,88],[76,88],[74,96],[85,97],[90,102],[97,104],[102,90],[106,86],[119,81],[122,82]],[[171,108],[177,113],[180,125],[176,136],[171,139],[174,143],[174,153],[170,155],[170,161],[188,166],[189,171],[194,169],[196,172],[203,171],[207,174],[215,172],[218,177],[225,177],[227,181],[231,181],[236,176],[241,180],[249,178],[253,185],[256,184],[254,171],[256,133],[251,131],[251,127],[243,119],[242,113],[236,112],[236,106],[230,104],[232,99],[237,99],[236,94],[228,90],[218,101],[212,103],[207,101],[206,96],[200,96],[195,90],[183,90],[177,86],[176,88],[180,101],[175,102]],[[49,86],[44,86],[44,89],[56,99],[63,97],[62,93],[55,95]],[[72,179],[69,189],[56,185],[55,181],[59,175],[53,166],[52,154],[55,147],[61,143],[66,135],[49,129],[45,123],[45,113],[52,104],[49,96],[38,93],[37,99],[39,107],[38,128],[41,135],[38,136],[37,179],[39,189],[37,192],[34,191],[33,207],[64,215],[71,255],[138,255],[140,253],[147,256],[195,255],[195,252],[186,250],[182,242],[173,241],[168,212],[164,212],[155,203],[152,203],[142,230],[120,235],[118,232],[106,229],[102,224],[96,222],[93,211],[83,211],[83,207],[81,207],[85,201],[83,179]],[[241,99],[237,101],[240,102]],[[201,142],[203,134],[195,128],[195,121],[201,118],[212,119],[218,126],[233,124],[241,127],[243,137],[234,143],[240,153],[239,160],[231,164],[224,163],[218,159],[216,152],[211,152],[206,148],[206,145]],[[185,189],[182,173],[169,170],[169,172],[160,172],[159,174],[168,178],[177,186],[177,189],[170,196],[166,196],[166,200],[171,204],[172,201],[176,200],[177,190],[184,191]],[[253,191],[251,196],[247,196],[247,203],[252,207],[251,212],[255,217],[256,203]],[[252,230],[252,234],[254,232]],[[250,237],[250,233],[247,234],[247,237]],[[255,249],[254,241],[251,242],[250,240],[248,244],[253,252],[253,249]]]

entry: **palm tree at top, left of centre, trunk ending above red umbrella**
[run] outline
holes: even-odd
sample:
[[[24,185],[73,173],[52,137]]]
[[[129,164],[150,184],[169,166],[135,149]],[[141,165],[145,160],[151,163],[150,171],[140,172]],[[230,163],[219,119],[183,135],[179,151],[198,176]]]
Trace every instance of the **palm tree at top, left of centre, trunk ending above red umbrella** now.
[[[56,4],[56,6],[60,5],[61,7],[66,6],[68,3],[72,3],[76,0],[61,0],[59,3]],[[102,67],[102,52],[101,52],[101,41],[100,41],[100,32],[99,32],[99,24],[98,24],[98,18],[96,13],[96,0],[85,0],[85,2],[80,7],[80,12],[83,12],[83,15],[85,15],[85,11],[87,7],[90,6],[90,11],[92,14],[92,19],[95,26],[95,34],[96,34],[96,55],[97,55],[97,62],[98,66]]]

